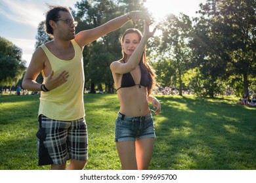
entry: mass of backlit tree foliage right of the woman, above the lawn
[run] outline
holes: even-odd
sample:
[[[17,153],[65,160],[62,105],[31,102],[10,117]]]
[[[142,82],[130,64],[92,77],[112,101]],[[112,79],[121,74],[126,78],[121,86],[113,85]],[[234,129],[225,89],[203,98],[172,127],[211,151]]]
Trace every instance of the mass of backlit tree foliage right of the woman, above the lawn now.
[[[255,1],[208,0],[192,20],[184,14],[167,15],[159,22],[163,35],[151,44],[158,50],[154,67],[159,82],[171,82],[180,91],[186,82],[198,95],[210,97],[228,87],[248,94],[256,73],[255,6]],[[199,74],[189,83],[184,76],[191,69]],[[233,85],[241,83],[238,80],[242,92]]]

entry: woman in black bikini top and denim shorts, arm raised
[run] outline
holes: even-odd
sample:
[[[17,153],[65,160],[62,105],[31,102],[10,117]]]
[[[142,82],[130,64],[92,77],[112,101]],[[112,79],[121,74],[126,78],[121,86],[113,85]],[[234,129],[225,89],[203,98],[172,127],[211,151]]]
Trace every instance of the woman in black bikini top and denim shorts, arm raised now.
[[[154,124],[148,103],[159,114],[161,104],[150,95],[155,73],[146,63],[145,45],[156,31],[144,24],[144,35],[138,29],[127,29],[121,39],[123,58],[110,65],[120,102],[116,119],[116,147],[122,169],[148,169],[152,159]]]

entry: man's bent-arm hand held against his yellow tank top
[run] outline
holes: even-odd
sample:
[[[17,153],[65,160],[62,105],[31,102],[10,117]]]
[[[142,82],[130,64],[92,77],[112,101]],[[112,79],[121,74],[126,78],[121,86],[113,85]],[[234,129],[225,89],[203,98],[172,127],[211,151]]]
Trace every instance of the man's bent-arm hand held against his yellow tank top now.
[[[64,84],[68,80],[68,76],[70,76],[68,75],[67,71],[62,71],[62,73],[54,77],[53,74],[54,72],[51,71],[50,75],[47,77],[45,81],[45,87],[50,91]]]

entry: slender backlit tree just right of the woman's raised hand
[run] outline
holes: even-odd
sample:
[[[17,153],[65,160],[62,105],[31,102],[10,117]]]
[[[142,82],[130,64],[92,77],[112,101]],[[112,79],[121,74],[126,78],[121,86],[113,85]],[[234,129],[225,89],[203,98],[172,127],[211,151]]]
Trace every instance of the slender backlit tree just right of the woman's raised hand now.
[[[192,21],[185,14],[179,16],[169,14],[160,24],[163,36],[158,52],[162,53],[161,56],[165,61],[169,61],[169,64],[165,64],[165,67],[167,66],[170,72],[174,71],[172,84],[179,88],[179,95],[182,95],[182,88],[184,88],[182,78],[188,71],[191,61],[188,41],[192,30]],[[165,72],[165,75],[169,75],[169,73]]]

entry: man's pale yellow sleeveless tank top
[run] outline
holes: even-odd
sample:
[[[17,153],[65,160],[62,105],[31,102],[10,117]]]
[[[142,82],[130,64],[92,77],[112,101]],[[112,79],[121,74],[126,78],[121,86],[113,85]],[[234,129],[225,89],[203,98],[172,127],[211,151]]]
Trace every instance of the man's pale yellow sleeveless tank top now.
[[[75,50],[75,56],[71,60],[62,60],[56,58],[45,46],[42,44],[47,58],[51,63],[54,76],[62,71],[68,71],[68,81],[51,90],[50,92],[41,92],[40,105],[38,115],[43,114],[53,120],[71,121],[78,120],[85,116],[85,109],[83,104],[83,56],[79,45],[72,40]],[[43,75],[45,82],[47,77]]]

